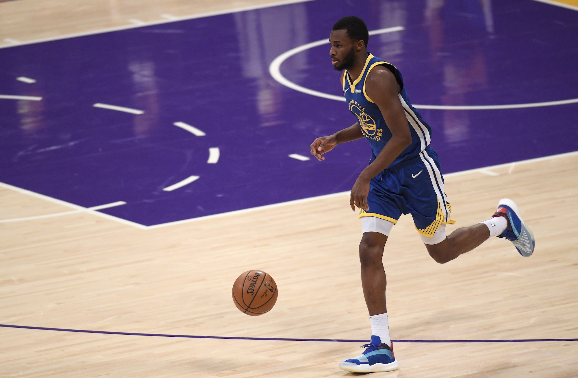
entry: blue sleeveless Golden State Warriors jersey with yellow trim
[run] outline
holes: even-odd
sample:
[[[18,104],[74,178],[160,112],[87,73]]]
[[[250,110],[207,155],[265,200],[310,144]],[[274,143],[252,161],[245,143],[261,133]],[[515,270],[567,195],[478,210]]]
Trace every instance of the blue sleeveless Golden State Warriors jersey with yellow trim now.
[[[431,128],[421,119],[420,113],[413,108],[412,103],[409,101],[407,91],[403,87],[403,78],[398,69],[388,62],[376,58],[372,54],[368,54],[363,71],[357,80],[351,82],[349,72],[345,71],[345,75],[343,76],[343,94],[345,95],[349,110],[355,114],[355,117],[357,117],[359,121],[365,139],[371,144],[373,155],[371,161],[375,160],[381,152],[381,149],[383,149],[383,146],[391,139],[391,131],[387,127],[386,120],[383,119],[381,110],[379,110],[375,102],[373,102],[365,92],[365,78],[369,71],[377,65],[386,66],[386,68],[395,75],[395,79],[402,88],[399,93],[399,100],[405,110],[407,124],[412,133],[412,144],[403,150],[387,167],[390,168],[399,162],[417,157],[421,151],[425,150],[425,147],[429,146],[431,142]]]

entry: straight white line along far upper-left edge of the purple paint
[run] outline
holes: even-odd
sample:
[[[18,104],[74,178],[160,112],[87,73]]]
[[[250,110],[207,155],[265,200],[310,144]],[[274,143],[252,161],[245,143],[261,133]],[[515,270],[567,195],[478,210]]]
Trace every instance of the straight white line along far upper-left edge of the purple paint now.
[[[61,35],[61,36],[51,37],[51,38],[33,39],[33,40],[28,40],[28,41],[26,41],[26,42],[16,41],[15,39],[14,39],[14,40],[15,40],[16,43],[18,43],[19,45],[32,45],[33,43],[50,42],[51,40],[60,40],[60,39],[68,39],[68,38],[81,37],[81,36],[85,36],[85,35],[102,34],[102,33],[108,33],[108,32],[112,32],[112,31],[119,31],[119,30],[140,28],[140,27],[143,27],[143,26],[162,25],[162,24],[172,23],[172,22],[175,22],[175,21],[194,20],[195,18],[203,18],[203,17],[211,17],[211,16],[220,16],[221,14],[231,14],[231,13],[238,13],[238,12],[246,12],[247,10],[273,8],[273,7],[276,7],[276,6],[290,5],[290,4],[296,4],[296,3],[305,3],[305,2],[309,2],[309,1],[314,1],[314,0],[288,0],[288,1],[278,2],[278,3],[268,3],[268,4],[255,5],[255,6],[246,6],[246,7],[244,7],[244,8],[235,8],[235,9],[229,9],[229,10],[221,10],[221,11],[219,11],[219,12],[199,13],[199,14],[194,14],[193,16],[177,17],[175,20],[154,21],[154,22],[151,22],[151,23],[144,23],[144,25],[123,25],[123,26],[115,27],[115,28],[98,29],[98,30],[93,30],[93,31],[88,31],[88,32],[81,32],[81,33],[75,33],[75,34],[67,34],[67,35]],[[9,38],[7,38],[7,39],[9,39]],[[5,39],[5,40],[6,40],[6,39]],[[0,46],[0,49],[8,49],[9,47],[13,47],[13,46]]]

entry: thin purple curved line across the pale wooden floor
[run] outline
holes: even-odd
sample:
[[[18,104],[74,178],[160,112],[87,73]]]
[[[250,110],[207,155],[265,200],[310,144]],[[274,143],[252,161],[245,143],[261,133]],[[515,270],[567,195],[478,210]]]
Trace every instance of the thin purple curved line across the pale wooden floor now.
[[[162,338],[189,338],[189,339],[228,339],[228,340],[271,340],[271,341],[319,341],[319,342],[344,342],[365,343],[367,340],[348,339],[288,339],[288,338],[240,338],[235,336],[198,336],[198,335],[168,335],[164,333],[136,333],[136,332],[113,332],[113,331],[90,331],[88,329],[68,329],[50,327],[29,327],[28,325],[0,324],[5,328],[42,329],[44,331],[102,333],[105,335],[129,335],[129,336],[157,336]],[[511,339],[511,340],[391,340],[396,343],[517,343],[539,341],[578,341],[578,339]]]

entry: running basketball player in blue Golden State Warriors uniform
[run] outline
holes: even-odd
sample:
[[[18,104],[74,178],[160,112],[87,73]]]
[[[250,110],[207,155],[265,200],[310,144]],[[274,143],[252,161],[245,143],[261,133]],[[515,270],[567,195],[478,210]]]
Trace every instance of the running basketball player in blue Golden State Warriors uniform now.
[[[367,52],[368,29],[359,17],[344,17],[333,27],[331,60],[343,71],[341,86],[358,122],[311,144],[311,153],[324,154],[339,143],[365,138],[372,148],[370,164],[351,189],[350,205],[360,209],[363,236],[359,247],[361,284],[372,328],[363,354],[340,362],[350,372],[385,372],[398,368],[386,309],[383,249],[401,214],[412,214],[417,231],[433,260],[444,264],[492,236],[506,238],[528,257],[534,250],[531,229],[516,203],[502,199],[486,221],[446,235],[451,206],[444,192],[438,154],[429,146],[431,128],[413,108],[395,66]]]

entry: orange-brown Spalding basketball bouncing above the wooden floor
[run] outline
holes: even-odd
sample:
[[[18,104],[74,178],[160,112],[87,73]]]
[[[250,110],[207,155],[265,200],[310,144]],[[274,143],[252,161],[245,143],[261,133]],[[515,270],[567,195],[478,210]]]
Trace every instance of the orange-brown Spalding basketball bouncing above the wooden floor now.
[[[244,314],[262,315],[277,302],[277,284],[262,270],[249,270],[233,284],[233,302]]]

